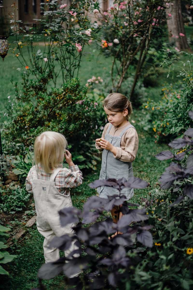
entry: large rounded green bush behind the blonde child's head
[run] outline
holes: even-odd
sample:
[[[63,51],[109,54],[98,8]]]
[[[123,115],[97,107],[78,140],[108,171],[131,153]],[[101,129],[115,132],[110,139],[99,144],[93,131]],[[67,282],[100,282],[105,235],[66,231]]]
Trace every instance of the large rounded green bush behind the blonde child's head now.
[[[101,122],[101,107],[93,94],[86,95],[87,88],[79,79],[72,79],[62,88],[52,88],[48,92],[50,78],[49,72],[41,75],[38,81],[30,80],[28,74],[23,75],[22,92],[17,92],[4,123],[5,146],[10,146],[10,142],[24,144],[15,151],[12,148],[12,152],[23,155],[23,149],[33,146],[35,137],[43,131],[60,132],[65,135],[72,148],[72,157],[76,157],[81,168],[95,169],[98,159],[93,155],[94,140],[100,135],[100,123],[104,123]],[[19,166],[19,171],[26,175],[29,162],[24,164],[24,156],[19,156],[15,164],[16,169]]]

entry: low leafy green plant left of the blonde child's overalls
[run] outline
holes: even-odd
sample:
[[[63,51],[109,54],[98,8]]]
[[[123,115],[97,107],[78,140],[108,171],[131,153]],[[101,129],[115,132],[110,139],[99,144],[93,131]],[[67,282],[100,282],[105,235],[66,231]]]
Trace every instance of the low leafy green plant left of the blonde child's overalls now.
[[[1,195],[0,210],[10,212],[25,209],[26,202],[30,200],[30,193],[19,187],[11,187],[9,189],[5,195]]]

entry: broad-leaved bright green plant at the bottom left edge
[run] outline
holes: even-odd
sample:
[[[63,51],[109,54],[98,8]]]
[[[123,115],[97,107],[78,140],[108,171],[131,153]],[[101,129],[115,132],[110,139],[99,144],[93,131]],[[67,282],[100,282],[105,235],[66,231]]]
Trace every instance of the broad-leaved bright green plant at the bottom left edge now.
[[[11,229],[6,228],[5,226],[0,225],[0,264],[6,264],[8,262],[11,262],[14,258],[16,258],[16,255],[10,255],[5,249],[7,246],[5,245],[6,240],[5,237],[9,237],[9,234],[7,233]],[[0,265],[0,274],[1,275],[9,275],[8,271],[3,269],[3,267]]]

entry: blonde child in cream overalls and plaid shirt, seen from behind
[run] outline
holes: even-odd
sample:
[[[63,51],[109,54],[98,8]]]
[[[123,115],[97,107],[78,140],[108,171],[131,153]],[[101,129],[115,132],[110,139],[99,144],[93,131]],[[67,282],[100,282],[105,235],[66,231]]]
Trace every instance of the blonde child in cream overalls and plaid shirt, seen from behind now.
[[[72,224],[65,227],[60,225],[58,211],[64,207],[71,207],[70,188],[82,184],[82,172],[72,162],[71,154],[65,150],[65,137],[56,132],[43,132],[34,144],[35,166],[26,178],[26,190],[34,194],[37,213],[37,229],[45,237],[43,243],[45,262],[59,259],[59,250],[50,249],[49,243],[55,236],[73,234]],[[66,159],[69,169],[63,168]],[[77,249],[72,243],[65,251],[67,257],[71,251]]]

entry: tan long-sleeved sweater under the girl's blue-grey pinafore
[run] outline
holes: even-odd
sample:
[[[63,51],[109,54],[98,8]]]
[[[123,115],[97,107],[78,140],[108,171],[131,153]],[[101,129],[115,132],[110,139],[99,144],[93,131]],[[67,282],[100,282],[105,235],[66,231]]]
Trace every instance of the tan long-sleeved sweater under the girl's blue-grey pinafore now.
[[[102,132],[102,138],[104,138],[110,125],[111,123],[107,123],[104,126],[104,130]],[[128,122],[128,125],[130,125],[129,122]],[[109,134],[112,136],[119,136],[122,130],[124,130],[124,128],[119,129],[119,128],[116,128],[115,126],[112,126]],[[133,162],[137,154],[138,143],[139,143],[139,139],[138,139],[136,130],[134,128],[128,128],[128,130],[125,131],[125,133],[123,134],[121,138],[121,144],[120,144],[121,147],[116,147],[117,154],[116,155],[113,154],[113,156],[116,159],[119,159],[124,162]],[[99,151],[103,150],[96,143],[95,143],[95,147],[96,149],[99,149]]]

